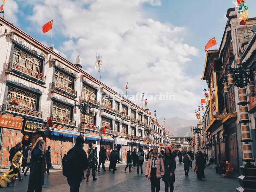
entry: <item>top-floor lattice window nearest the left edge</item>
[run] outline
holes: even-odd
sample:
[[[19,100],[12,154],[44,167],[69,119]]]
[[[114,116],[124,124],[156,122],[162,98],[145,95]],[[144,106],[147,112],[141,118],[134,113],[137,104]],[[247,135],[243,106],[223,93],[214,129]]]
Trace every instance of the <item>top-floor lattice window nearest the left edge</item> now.
[[[12,61],[22,67],[28,68],[36,73],[40,73],[41,60],[21,51],[17,47],[14,47]]]

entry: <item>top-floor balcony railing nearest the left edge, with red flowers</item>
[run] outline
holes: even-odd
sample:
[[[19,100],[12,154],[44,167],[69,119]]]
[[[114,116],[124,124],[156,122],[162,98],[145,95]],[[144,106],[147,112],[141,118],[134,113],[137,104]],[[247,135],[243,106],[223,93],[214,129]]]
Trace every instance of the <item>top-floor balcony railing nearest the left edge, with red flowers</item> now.
[[[45,84],[45,77],[42,74],[39,74],[29,68],[24,66],[20,66],[18,63],[14,63],[13,61],[9,63],[9,70],[15,70],[16,72],[23,74],[23,76],[28,76],[29,78],[34,78],[35,81],[40,81]]]

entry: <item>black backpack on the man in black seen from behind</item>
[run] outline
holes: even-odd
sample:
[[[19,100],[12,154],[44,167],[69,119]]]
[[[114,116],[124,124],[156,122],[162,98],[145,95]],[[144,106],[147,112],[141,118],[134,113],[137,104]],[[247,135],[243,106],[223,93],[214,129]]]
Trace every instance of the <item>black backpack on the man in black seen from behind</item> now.
[[[78,149],[70,149],[67,155],[62,158],[62,174],[65,177],[73,177],[76,174],[76,151]]]

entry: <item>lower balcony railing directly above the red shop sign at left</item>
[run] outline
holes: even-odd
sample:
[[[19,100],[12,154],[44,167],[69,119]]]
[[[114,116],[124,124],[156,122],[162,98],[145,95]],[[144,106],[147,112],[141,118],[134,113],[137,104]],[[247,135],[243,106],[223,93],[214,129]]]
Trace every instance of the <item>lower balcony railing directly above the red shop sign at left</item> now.
[[[12,113],[18,113],[20,115],[30,116],[30,117],[36,117],[42,119],[43,112],[37,112],[31,109],[23,108],[17,105],[11,105],[8,102],[5,103],[5,111],[9,111]]]

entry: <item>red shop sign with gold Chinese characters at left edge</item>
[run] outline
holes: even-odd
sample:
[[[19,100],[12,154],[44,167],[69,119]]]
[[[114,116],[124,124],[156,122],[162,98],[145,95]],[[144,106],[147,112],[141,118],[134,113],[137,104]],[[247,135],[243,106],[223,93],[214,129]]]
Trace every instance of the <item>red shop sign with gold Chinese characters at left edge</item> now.
[[[22,129],[23,118],[20,116],[14,116],[11,114],[1,114],[0,115],[0,127],[7,127],[13,129]]]

